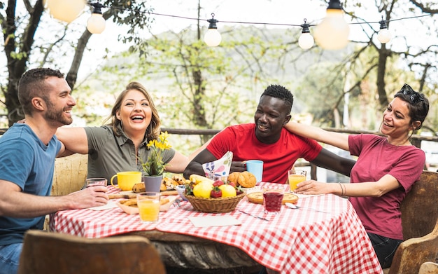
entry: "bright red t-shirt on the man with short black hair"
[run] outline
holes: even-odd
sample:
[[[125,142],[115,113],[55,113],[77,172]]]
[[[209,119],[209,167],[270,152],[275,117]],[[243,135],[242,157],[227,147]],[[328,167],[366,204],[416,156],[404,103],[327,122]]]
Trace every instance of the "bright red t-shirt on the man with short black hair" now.
[[[313,160],[322,146],[312,139],[281,130],[281,137],[274,144],[264,144],[255,137],[255,124],[232,125],[218,133],[207,146],[213,156],[221,158],[232,151],[234,161],[262,160],[262,181],[285,184],[288,170],[298,158]]]

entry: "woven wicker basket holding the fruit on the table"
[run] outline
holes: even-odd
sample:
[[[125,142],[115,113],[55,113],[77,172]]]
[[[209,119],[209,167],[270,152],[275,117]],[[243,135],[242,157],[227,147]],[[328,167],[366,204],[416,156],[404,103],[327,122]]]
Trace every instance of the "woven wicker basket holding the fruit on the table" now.
[[[198,198],[192,195],[184,194],[195,210],[206,213],[225,213],[232,212],[236,209],[237,204],[246,196],[246,193],[241,193],[234,197],[225,198]]]

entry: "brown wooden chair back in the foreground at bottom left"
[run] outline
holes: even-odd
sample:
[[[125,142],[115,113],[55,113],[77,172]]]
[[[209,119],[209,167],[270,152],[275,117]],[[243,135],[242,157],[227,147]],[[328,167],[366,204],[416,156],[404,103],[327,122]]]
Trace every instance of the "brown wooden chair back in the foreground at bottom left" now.
[[[28,231],[18,274],[161,274],[160,254],[139,235],[89,239]]]

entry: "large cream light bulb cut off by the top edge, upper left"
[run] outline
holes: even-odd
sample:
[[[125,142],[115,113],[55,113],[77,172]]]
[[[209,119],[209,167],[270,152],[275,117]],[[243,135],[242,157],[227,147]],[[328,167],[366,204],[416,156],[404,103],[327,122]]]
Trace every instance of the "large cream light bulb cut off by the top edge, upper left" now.
[[[85,8],[85,0],[46,0],[47,8],[53,18],[70,23]]]

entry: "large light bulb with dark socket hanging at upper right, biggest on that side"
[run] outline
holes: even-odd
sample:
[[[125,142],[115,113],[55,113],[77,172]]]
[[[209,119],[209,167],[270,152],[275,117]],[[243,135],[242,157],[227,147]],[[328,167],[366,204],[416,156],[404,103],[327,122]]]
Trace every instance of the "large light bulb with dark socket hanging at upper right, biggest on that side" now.
[[[325,50],[340,50],[347,46],[349,33],[341,3],[339,0],[330,0],[327,15],[313,32],[316,43]]]

